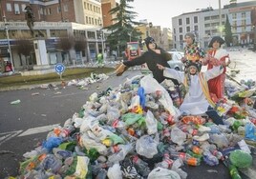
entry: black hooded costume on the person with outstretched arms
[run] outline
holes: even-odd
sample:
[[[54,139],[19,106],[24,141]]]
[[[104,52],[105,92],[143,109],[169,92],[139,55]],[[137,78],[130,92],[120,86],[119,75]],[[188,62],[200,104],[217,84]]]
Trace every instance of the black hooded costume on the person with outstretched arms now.
[[[159,83],[161,83],[164,79],[170,79],[163,76],[163,71],[159,70],[159,68],[157,67],[157,64],[160,64],[163,67],[170,68],[167,61],[172,59],[171,54],[159,48],[152,37],[147,37],[144,39],[144,41],[148,50],[144,52],[141,56],[131,61],[123,62],[123,65],[125,65],[126,67],[134,67],[134,66],[139,66],[146,63],[148,69],[152,71],[153,77]],[[148,47],[149,43],[155,43],[156,50],[160,50],[160,54],[156,53],[153,50],[150,50]],[[171,79],[171,80],[174,82],[175,85],[179,84],[177,80],[174,80],[174,79]]]

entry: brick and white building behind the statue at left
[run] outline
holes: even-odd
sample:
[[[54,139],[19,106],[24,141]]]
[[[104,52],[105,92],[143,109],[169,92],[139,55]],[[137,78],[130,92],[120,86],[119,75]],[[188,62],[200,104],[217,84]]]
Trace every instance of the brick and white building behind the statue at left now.
[[[116,6],[116,2],[112,0],[104,1],[107,2],[111,4],[111,8],[113,4]],[[34,14],[35,36],[38,35],[37,30],[40,30],[44,34],[46,45],[51,46],[47,47],[48,50],[51,49],[48,51],[50,65],[61,62],[61,55],[53,52],[53,43],[55,38],[64,34],[74,34],[87,40],[87,49],[81,52],[82,56],[75,54],[77,51],[71,51],[73,59],[89,61],[96,57],[99,50],[109,49],[105,43],[106,31],[101,30],[104,27],[101,0],[1,0],[0,15],[6,18],[7,23],[3,22],[3,18],[0,19],[0,51],[7,51],[8,41],[11,47],[14,46],[13,39],[18,32],[29,32],[25,19],[27,6],[32,7]],[[11,53],[15,68],[19,69],[21,63],[16,58],[15,50]],[[1,54],[3,57],[5,55],[8,57],[7,53]]]

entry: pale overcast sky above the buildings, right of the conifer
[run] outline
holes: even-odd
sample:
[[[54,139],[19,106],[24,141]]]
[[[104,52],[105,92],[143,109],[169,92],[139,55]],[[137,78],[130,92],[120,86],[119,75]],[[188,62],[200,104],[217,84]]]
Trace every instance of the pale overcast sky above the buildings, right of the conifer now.
[[[237,0],[237,3],[248,1],[253,0]],[[227,4],[229,0],[221,0],[222,8]],[[153,26],[171,28],[172,17],[209,6],[219,9],[219,0],[134,0],[130,6],[134,7],[133,11],[138,12],[136,20],[147,19]]]

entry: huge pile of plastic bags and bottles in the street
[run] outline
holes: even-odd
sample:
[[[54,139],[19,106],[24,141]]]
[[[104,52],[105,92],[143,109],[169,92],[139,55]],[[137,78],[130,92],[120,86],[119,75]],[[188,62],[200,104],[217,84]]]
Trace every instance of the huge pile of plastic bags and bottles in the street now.
[[[176,89],[150,75],[127,79],[119,87],[93,93],[63,127],[49,132],[24,153],[21,178],[176,178],[182,166],[218,166],[232,178],[250,169],[256,147],[255,82],[234,86],[218,103],[224,125],[203,116],[182,116]],[[178,95],[177,95],[178,96]],[[240,177],[241,178],[241,177]]]

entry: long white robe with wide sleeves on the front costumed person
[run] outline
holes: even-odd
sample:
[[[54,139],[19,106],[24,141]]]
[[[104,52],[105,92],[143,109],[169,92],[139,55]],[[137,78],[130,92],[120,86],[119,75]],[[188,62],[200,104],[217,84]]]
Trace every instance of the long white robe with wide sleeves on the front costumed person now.
[[[224,69],[221,66],[217,66],[211,70],[202,72],[202,74],[204,79],[208,81],[209,79],[215,78],[216,76],[220,75],[223,70]],[[165,70],[163,70],[163,75],[166,77],[177,79],[180,83],[184,83],[184,72],[165,68]],[[199,73],[195,75],[190,75],[190,79],[190,86],[188,92],[185,94],[180,110],[181,112],[185,112],[186,114],[191,115],[203,114],[205,111],[207,111],[209,103],[203,93]]]

